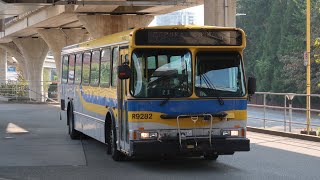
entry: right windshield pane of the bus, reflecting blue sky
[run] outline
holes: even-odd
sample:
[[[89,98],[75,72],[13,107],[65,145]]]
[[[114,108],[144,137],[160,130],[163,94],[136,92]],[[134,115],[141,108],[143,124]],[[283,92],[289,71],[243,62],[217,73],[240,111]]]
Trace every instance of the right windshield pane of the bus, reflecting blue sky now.
[[[195,80],[195,93],[199,97],[242,97],[246,94],[238,53],[199,52]]]

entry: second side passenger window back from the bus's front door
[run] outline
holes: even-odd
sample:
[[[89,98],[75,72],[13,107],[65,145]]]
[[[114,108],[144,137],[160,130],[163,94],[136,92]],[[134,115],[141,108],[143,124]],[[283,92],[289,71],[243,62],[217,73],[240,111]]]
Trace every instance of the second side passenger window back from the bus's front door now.
[[[101,52],[100,86],[110,86],[110,49]]]

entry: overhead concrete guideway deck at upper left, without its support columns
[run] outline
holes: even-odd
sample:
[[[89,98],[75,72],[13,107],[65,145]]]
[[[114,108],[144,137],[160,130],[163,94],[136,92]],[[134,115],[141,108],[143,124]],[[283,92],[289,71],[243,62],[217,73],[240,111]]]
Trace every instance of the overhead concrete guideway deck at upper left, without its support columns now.
[[[5,23],[4,35],[0,42],[11,41],[14,37],[38,36],[37,28],[82,28],[78,15],[159,15],[203,4],[200,0],[159,0],[159,1],[57,1],[46,6],[20,14]],[[26,3],[27,4],[27,3]],[[16,6],[18,6],[17,4]],[[40,3],[43,5],[43,3]],[[24,6],[28,6],[24,4]],[[30,5],[29,5],[30,6]]]

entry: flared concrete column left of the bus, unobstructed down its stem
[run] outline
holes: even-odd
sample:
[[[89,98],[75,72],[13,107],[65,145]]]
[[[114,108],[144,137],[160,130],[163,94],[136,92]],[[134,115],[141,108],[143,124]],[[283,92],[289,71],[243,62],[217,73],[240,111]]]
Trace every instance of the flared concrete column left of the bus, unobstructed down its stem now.
[[[42,101],[43,99],[43,63],[49,48],[41,38],[18,38],[13,42],[22,53],[29,80],[29,97]]]

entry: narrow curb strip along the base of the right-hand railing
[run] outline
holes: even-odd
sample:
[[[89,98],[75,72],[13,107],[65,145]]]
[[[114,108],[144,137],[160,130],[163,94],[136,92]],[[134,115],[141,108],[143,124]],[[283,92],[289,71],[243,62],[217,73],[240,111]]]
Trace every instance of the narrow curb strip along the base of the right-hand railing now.
[[[307,140],[307,141],[320,142],[320,137],[318,137],[318,136],[280,132],[280,131],[250,127],[250,126],[247,127],[247,130],[251,131],[251,132],[270,134],[270,135],[275,135],[275,136],[283,136],[283,137],[289,137],[289,138],[295,138],[295,139],[301,139],[301,140]]]

